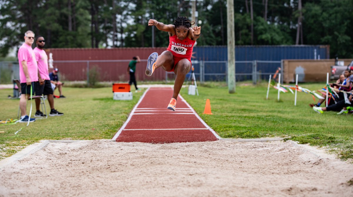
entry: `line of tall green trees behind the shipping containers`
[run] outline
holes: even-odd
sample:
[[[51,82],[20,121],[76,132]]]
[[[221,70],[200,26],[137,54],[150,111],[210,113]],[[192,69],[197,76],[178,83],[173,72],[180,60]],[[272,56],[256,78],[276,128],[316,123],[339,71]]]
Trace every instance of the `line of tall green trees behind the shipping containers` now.
[[[196,0],[198,46],[227,44],[226,3]],[[172,24],[191,11],[185,0],[0,1],[0,55],[23,43],[27,30],[48,48],[167,47],[167,32],[148,20]],[[234,0],[234,13],[236,45],[329,44],[331,58],[353,57],[352,0]]]

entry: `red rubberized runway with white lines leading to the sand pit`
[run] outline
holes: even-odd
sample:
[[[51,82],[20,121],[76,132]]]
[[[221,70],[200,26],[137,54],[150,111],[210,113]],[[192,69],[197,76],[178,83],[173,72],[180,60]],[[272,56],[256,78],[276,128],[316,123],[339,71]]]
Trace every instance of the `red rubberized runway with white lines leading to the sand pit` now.
[[[167,109],[172,88],[148,88],[113,139],[116,142],[204,142],[220,138],[179,95]]]

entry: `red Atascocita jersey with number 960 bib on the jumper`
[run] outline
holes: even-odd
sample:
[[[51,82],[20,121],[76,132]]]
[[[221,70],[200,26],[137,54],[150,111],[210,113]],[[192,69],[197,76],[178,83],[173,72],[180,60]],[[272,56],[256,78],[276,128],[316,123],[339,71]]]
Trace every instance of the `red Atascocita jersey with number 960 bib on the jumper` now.
[[[169,46],[167,50],[172,52],[174,58],[174,66],[182,59],[188,59],[191,64],[192,49],[194,47],[195,40],[191,40],[188,37],[180,41],[177,34],[169,37]]]

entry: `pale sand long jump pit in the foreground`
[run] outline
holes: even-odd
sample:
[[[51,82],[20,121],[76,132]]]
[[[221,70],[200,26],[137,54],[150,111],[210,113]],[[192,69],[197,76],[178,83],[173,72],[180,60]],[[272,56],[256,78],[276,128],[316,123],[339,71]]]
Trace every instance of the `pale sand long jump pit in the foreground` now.
[[[292,141],[42,141],[0,162],[0,196],[351,197],[352,178]]]

